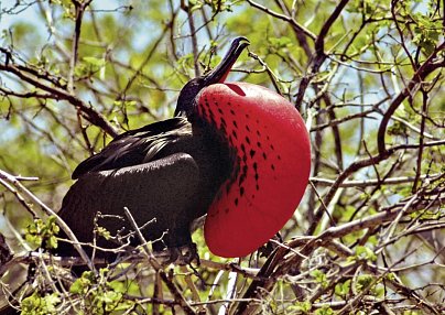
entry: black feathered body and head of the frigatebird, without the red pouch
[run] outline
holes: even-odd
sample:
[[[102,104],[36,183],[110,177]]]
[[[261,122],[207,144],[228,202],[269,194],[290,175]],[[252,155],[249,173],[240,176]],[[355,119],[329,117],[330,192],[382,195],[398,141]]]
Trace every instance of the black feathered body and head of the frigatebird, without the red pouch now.
[[[167,262],[196,257],[191,225],[207,213],[236,159],[227,140],[196,117],[196,99],[205,87],[224,82],[248,45],[247,39],[235,39],[215,69],[188,82],[175,118],[124,132],[77,166],[77,182],[63,199],[59,216],[80,242],[91,242],[97,226],[111,236],[128,235],[132,229],[123,215],[127,207],[145,239],[154,241],[153,249],[167,252]],[[138,245],[137,238],[131,243]],[[119,241],[99,236],[96,245],[117,248]],[[66,242],[57,252],[76,254]],[[96,256],[109,257],[101,251]]]

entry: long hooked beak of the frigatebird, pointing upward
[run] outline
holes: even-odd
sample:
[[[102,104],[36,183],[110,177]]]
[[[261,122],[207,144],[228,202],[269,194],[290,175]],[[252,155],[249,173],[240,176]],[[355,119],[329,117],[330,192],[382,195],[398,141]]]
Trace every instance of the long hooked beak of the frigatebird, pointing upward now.
[[[236,37],[234,41],[231,41],[230,48],[223,57],[221,62],[213,70],[203,76],[204,86],[224,83],[235,62],[241,55],[242,51],[249,45],[249,40],[242,36]]]

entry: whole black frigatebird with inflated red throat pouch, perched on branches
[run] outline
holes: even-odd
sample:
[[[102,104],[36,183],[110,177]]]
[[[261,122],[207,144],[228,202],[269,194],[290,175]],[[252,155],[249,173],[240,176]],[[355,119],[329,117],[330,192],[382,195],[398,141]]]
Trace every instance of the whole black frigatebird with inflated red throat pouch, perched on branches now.
[[[205,215],[206,242],[221,257],[246,256],[284,226],[307,184],[308,134],[280,95],[225,83],[248,45],[235,39],[217,67],[189,80],[174,118],[127,131],[77,166],[59,216],[79,241],[127,240],[124,207],[167,262],[195,258],[191,226]],[[115,237],[98,236],[98,227]],[[74,250],[61,243],[58,252]]]

